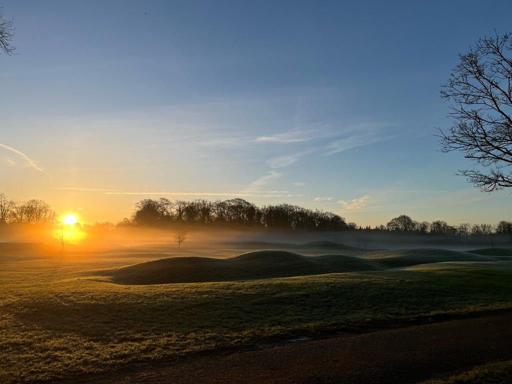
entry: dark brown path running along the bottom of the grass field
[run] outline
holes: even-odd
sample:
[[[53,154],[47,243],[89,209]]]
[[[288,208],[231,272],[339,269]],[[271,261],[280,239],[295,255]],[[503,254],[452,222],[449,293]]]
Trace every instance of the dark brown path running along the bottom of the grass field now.
[[[84,381],[406,384],[498,359],[512,359],[510,312],[201,357]]]

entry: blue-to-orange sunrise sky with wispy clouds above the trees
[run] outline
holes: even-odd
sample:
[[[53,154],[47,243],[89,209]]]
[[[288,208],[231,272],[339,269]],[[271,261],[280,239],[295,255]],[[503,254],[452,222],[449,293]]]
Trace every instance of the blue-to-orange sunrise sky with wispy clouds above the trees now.
[[[0,55],[0,192],[82,222],[243,198],[359,225],[510,219],[439,152],[441,84],[512,2],[23,1]]]

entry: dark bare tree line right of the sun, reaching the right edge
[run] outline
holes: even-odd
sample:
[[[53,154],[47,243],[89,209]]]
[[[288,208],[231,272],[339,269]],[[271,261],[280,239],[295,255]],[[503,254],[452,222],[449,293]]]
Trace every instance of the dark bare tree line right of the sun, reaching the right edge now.
[[[386,225],[375,227],[347,223],[344,218],[322,210],[312,210],[290,204],[258,207],[243,199],[170,201],[165,198],[144,199],[136,203],[130,219],[118,225],[165,226],[176,223],[189,225],[245,226],[291,230],[357,230],[398,233],[432,234],[442,236],[481,236],[487,234],[512,235],[512,222],[502,220],[497,225],[449,225],[445,221],[432,223],[415,221],[407,215],[391,219]]]

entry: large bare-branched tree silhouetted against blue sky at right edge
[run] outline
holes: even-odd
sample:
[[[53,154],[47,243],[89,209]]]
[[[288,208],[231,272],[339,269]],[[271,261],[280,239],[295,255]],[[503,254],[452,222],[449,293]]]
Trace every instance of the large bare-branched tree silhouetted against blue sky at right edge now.
[[[484,37],[466,54],[442,86],[454,125],[440,131],[442,152],[461,151],[487,167],[459,170],[482,191],[512,186],[512,33]]]

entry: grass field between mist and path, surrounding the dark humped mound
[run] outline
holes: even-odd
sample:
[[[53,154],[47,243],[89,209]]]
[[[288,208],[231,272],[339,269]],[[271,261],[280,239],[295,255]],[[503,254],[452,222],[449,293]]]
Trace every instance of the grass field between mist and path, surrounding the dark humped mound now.
[[[327,248],[294,248],[292,260],[315,253],[335,260],[332,244]],[[238,251],[245,259],[250,254],[246,247]],[[351,258],[339,257],[344,263],[357,253],[348,251]],[[236,253],[236,245],[190,245],[181,252],[221,263],[223,255]],[[260,280],[154,285],[115,284],[104,271],[175,257],[176,251],[144,253],[139,247],[77,253],[62,261],[7,258],[0,262],[0,382],[71,377],[276,338],[512,308],[512,261],[508,250],[497,253],[361,250],[361,260],[377,270],[271,279],[261,279],[259,270]],[[282,268],[281,253],[273,254],[274,260],[263,253],[269,271],[272,265]]]

